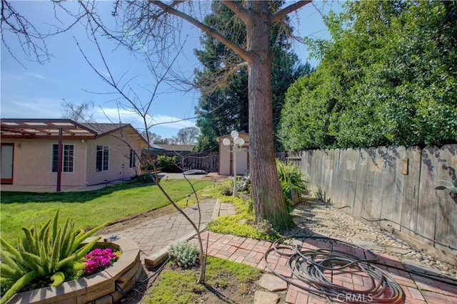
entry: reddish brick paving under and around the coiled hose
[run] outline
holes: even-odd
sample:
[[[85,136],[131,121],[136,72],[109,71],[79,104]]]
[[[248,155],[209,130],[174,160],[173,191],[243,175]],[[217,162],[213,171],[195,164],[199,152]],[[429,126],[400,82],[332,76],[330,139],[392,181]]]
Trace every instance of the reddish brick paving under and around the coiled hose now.
[[[229,261],[244,263],[249,266],[260,268],[262,271],[271,272],[263,261],[265,252],[271,248],[272,243],[268,241],[257,241],[254,239],[215,234],[204,232],[201,235],[204,241],[204,248],[207,248],[208,256],[224,258]],[[208,243],[208,244],[207,244]],[[315,245],[315,246],[313,246]],[[316,242],[313,248],[328,248],[328,243]],[[343,248],[341,248],[343,249]],[[357,251],[357,250],[356,250]],[[387,271],[390,276],[401,286],[406,295],[407,304],[457,304],[457,287],[451,283],[439,283],[423,276],[408,273],[403,264],[394,256],[376,253],[381,262],[388,266],[378,266]],[[276,273],[286,278],[291,278],[292,273],[287,266],[288,258],[279,256],[276,253],[268,255],[268,264]],[[398,269],[399,268],[399,269]],[[403,270],[402,270],[403,269]],[[333,281],[338,285],[362,290],[368,286],[366,276],[352,271],[338,276],[338,280]],[[457,283],[453,281],[453,283]],[[366,299],[369,303],[369,299]],[[328,303],[326,298],[308,293],[308,291],[289,284],[286,293],[286,303],[311,304]]]

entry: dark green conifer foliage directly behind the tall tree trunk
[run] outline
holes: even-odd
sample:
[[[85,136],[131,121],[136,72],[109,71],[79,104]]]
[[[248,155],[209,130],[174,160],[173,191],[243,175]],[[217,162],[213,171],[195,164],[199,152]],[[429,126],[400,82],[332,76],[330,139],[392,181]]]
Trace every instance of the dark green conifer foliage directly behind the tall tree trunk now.
[[[271,3],[281,6],[282,2]],[[205,17],[204,23],[236,45],[246,46],[246,26],[220,1],[211,4],[211,13]],[[287,17],[271,27],[273,131],[278,125],[288,86],[311,70],[308,63],[301,65],[291,51],[287,31],[292,31]],[[233,129],[248,131],[249,125],[248,73],[246,68],[239,66],[243,60],[210,35],[204,34],[202,44],[203,49],[194,51],[203,66],[195,73],[195,85],[201,93],[196,108],[197,126],[201,130],[196,151],[217,150],[216,137],[229,134]],[[276,137],[274,143],[277,150],[281,149]]]

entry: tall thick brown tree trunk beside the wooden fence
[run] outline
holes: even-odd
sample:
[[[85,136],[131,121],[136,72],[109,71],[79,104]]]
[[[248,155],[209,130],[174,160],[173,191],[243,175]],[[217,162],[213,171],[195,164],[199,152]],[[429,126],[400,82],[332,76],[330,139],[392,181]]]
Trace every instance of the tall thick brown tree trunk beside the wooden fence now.
[[[246,23],[249,94],[249,163],[256,221],[268,219],[277,230],[291,226],[276,171],[273,148],[270,16],[268,1],[249,1]],[[255,15],[255,16],[254,16]]]

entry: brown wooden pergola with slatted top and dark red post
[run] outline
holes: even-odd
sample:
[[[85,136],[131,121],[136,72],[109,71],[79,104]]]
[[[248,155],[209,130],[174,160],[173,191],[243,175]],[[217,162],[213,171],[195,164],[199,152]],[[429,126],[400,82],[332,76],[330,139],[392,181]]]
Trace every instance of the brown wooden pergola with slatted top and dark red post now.
[[[96,130],[69,119],[8,119],[0,120],[2,139],[57,139],[59,142],[57,160],[56,192],[61,190],[63,139],[94,140]]]

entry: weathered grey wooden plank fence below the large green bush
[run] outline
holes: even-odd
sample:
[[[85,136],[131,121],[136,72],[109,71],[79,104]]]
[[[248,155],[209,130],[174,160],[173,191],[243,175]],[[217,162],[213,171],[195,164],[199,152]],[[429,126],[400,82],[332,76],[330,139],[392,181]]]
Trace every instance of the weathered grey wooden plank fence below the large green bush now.
[[[457,256],[457,145],[308,150],[287,158],[333,206]]]

